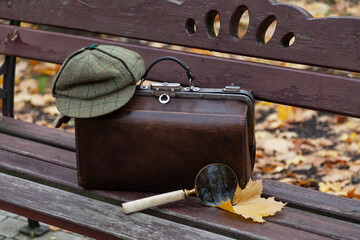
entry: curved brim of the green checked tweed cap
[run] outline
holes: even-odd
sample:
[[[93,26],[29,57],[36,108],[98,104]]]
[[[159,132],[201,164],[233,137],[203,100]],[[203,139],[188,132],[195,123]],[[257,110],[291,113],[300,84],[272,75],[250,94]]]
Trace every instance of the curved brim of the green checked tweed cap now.
[[[130,85],[99,99],[56,98],[59,112],[68,117],[91,118],[111,113],[124,106],[134,95],[136,85]]]

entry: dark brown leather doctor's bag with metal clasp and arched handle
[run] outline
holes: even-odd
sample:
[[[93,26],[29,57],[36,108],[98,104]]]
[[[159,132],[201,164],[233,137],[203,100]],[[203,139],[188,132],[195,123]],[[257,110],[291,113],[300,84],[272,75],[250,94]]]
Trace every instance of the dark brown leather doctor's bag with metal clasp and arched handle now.
[[[183,66],[189,87],[142,85],[152,66],[166,59]],[[255,160],[253,96],[233,86],[196,88],[192,80],[178,59],[158,59],[124,107],[76,119],[79,185],[148,192],[192,188],[201,168],[224,163],[244,188]]]

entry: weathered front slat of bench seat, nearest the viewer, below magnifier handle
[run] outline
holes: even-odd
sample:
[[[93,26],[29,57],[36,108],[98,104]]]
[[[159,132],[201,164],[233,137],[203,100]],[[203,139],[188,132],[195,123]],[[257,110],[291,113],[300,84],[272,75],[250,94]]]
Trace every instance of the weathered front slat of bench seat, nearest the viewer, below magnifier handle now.
[[[2,207],[97,239],[230,239],[2,173],[0,182]]]

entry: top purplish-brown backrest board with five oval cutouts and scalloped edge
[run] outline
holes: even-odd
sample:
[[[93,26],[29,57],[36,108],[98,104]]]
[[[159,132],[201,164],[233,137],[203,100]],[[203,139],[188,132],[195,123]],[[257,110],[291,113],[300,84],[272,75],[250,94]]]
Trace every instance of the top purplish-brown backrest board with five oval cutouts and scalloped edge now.
[[[249,10],[250,21],[246,35],[239,39],[236,31],[238,19],[244,9]],[[217,37],[212,30],[208,30],[212,29],[213,13],[220,16],[220,32]],[[0,17],[360,71],[360,19],[314,19],[304,9],[277,4],[274,0],[2,0]],[[196,24],[194,34],[186,30],[189,19]],[[263,44],[262,38],[267,25],[274,19],[277,20],[275,33],[268,43]],[[296,37],[295,43],[290,47],[286,47],[282,40],[288,34]]]

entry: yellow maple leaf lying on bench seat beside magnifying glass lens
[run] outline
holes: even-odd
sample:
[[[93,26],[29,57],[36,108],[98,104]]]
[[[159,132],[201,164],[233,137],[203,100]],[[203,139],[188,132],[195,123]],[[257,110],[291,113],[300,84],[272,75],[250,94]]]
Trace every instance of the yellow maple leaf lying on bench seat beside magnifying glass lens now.
[[[277,202],[272,198],[262,198],[263,190],[262,180],[248,182],[245,189],[242,190],[239,186],[236,189],[233,198],[233,204],[230,199],[226,202],[222,201],[221,205],[217,207],[239,214],[244,218],[251,218],[254,222],[264,223],[263,217],[272,216],[286,205],[282,202]]]

